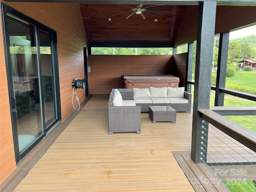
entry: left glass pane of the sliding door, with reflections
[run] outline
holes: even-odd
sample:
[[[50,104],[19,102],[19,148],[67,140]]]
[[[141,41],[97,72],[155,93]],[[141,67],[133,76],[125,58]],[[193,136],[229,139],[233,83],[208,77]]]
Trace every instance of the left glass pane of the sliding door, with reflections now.
[[[13,96],[16,99],[12,118],[16,118],[18,149],[22,154],[43,132],[40,82],[34,26],[8,17]],[[9,90],[10,91],[10,90]]]

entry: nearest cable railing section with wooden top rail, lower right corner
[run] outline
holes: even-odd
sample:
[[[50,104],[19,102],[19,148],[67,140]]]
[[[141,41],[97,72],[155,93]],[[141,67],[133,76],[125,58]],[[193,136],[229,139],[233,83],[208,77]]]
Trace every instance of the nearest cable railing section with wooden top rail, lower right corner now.
[[[211,111],[211,110],[209,110]],[[200,110],[203,116],[208,116],[207,110]],[[205,112],[205,113],[204,113]],[[212,112],[210,112],[212,113]],[[211,116],[211,115],[210,115]],[[208,116],[208,118],[211,118]],[[212,119],[214,116],[212,116]],[[216,115],[215,115],[216,118]],[[219,119],[218,117],[217,119]],[[209,120],[209,119],[208,119]],[[212,121],[212,120],[211,120]],[[256,133],[245,128],[236,126],[235,123],[230,124],[228,120],[222,117],[222,121],[226,121],[226,125],[213,126],[206,120],[205,127],[202,129],[202,138],[204,138],[204,147],[207,148],[206,164],[214,172],[214,174],[224,182],[232,192],[255,192],[256,191]],[[224,129],[223,126],[230,126],[230,129]],[[232,127],[238,127],[232,129]],[[223,129],[228,134],[222,132]],[[232,133],[235,132],[235,133]],[[205,134],[207,133],[207,134]],[[236,134],[244,136],[237,141]],[[234,137],[234,138],[233,138]],[[241,144],[241,141],[244,144]],[[248,146],[248,147],[247,147]]]

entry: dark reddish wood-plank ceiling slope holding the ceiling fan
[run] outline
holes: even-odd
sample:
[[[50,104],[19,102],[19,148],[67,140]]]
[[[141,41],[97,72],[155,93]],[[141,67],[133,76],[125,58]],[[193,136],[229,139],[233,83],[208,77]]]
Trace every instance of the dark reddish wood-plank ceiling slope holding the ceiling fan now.
[[[146,19],[140,14],[126,19],[132,14],[127,6],[136,7],[138,4],[80,4],[88,42],[172,42],[187,7],[165,5],[149,10],[162,16],[143,12]],[[156,5],[145,4],[142,8],[150,6]]]

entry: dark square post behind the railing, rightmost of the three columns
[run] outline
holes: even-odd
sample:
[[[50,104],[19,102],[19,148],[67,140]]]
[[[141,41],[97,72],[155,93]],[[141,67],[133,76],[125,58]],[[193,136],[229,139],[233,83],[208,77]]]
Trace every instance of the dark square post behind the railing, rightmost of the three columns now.
[[[219,88],[225,88],[226,72],[228,62],[228,42],[229,32],[220,34],[219,53],[218,53],[218,68],[216,78],[216,91],[214,106],[224,106],[224,93],[220,92]]]

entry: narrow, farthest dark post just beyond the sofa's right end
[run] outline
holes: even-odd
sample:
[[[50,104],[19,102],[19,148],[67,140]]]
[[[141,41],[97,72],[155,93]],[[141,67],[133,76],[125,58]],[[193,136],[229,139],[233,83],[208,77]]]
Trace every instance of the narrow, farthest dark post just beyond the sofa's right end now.
[[[191,84],[188,81],[192,80],[192,69],[193,69],[193,54],[194,54],[194,42],[188,43],[188,54],[187,54],[187,66],[186,66],[186,91],[191,93]]]

